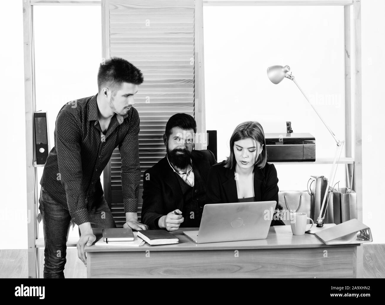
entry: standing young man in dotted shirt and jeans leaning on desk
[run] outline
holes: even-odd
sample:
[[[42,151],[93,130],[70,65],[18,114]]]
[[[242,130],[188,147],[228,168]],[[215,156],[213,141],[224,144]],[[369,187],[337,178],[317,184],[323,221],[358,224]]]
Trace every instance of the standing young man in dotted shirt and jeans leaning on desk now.
[[[122,58],[100,64],[99,92],[65,104],[55,124],[55,146],[40,180],[39,210],[44,227],[44,278],[64,278],[66,241],[71,221],[79,225],[79,258],[95,241],[92,228],[116,227],[104,199],[100,175],[115,147],[122,159],[124,227],[146,230],[138,222],[139,115],[134,94],[143,82],[141,71]]]

